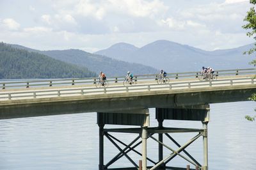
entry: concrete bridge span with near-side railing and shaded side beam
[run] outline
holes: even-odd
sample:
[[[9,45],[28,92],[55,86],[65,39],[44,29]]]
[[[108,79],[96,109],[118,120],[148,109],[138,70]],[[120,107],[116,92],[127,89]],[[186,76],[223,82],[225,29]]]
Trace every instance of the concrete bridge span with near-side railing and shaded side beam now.
[[[0,91],[0,119],[236,102],[248,100],[255,92],[253,75],[204,82],[180,79],[169,84],[143,81],[127,87],[117,83],[108,88],[86,85],[5,89]]]

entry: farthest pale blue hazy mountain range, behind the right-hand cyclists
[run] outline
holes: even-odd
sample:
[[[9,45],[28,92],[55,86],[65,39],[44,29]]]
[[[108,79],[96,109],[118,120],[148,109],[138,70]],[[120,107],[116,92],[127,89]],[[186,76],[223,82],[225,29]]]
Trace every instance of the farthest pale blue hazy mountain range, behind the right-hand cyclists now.
[[[115,47],[115,45],[95,53],[101,54],[104,52],[104,55],[116,59],[125,56],[122,48],[115,48],[115,55],[113,55],[112,47]],[[215,70],[249,68],[251,66],[248,63],[253,58],[252,56],[243,55],[243,52],[250,49],[250,47],[252,47],[252,44],[234,49],[206,51],[189,45],[158,40],[139,49],[134,49],[129,53],[129,56],[122,57],[122,59],[164,69],[167,72],[198,71],[202,66],[211,66]]]

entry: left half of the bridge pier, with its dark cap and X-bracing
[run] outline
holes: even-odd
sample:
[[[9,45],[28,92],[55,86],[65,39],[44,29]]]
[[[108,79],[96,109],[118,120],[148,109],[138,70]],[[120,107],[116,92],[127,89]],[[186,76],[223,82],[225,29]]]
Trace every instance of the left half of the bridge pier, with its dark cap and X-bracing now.
[[[132,160],[127,153],[134,151],[141,155],[142,170],[147,170],[147,127],[149,126],[149,112],[148,109],[136,109],[127,110],[122,112],[97,112],[97,124],[99,125],[99,170],[109,169],[109,166],[116,162],[119,158],[125,156],[134,165],[134,167],[125,167],[124,169],[138,169],[138,164]],[[134,139],[130,144],[125,144],[116,137],[110,134],[110,132],[124,132],[134,133],[132,128],[104,128],[104,125],[138,125],[141,128],[136,128],[138,137]],[[113,143],[116,148],[120,151],[112,160],[107,164],[104,164],[104,136]],[[138,142],[138,140],[141,141]],[[117,143],[125,146],[124,149],[120,148]],[[137,143],[136,143],[137,142]],[[136,143],[134,146],[132,144]],[[141,153],[136,151],[134,148],[141,144]],[[131,147],[132,146],[132,147]],[[111,168],[110,168],[111,169]]]

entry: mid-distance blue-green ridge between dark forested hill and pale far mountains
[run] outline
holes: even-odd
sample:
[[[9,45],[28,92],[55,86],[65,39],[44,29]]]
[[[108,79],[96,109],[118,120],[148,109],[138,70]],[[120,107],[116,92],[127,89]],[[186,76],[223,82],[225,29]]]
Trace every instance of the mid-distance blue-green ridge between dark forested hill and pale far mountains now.
[[[13,45],[19,49],[29,49],[20,45]],[[35,51],[34,49],[31,49]],[[85,66],[93,72],[100,71],[106,73],[107,76],[124,76],[127,71],[134,74],[156,73],[157,70],[150,66],[141,65],[138,63],[128,63],[119,61],[118,59],[108,58],[106,56],[92,54],[83,50],[36,50],[40,54],[44,54],[54,59],[72,63],[77,66]]]

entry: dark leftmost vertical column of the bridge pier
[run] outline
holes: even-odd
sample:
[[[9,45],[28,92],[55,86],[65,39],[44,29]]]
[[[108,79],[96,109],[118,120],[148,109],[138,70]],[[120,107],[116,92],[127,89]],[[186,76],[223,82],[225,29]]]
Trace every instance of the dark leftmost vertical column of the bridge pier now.
[[[104,169],[104,125],[99,124],[99,170]]]

